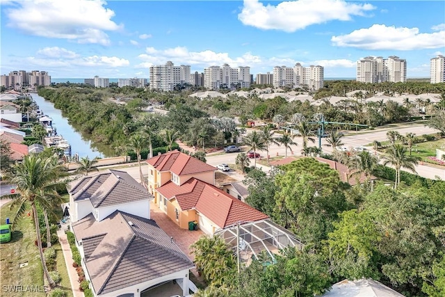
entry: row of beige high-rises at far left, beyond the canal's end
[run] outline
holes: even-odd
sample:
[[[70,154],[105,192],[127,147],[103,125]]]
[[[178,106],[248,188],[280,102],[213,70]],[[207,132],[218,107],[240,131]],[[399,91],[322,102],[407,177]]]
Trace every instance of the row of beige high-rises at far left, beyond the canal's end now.
[[[3,74],[0,78],[0,86],[20,90],[22,87],[35,88],[37,86],[51,85],[51,77],[46,71],[25,70],[11,71],[8,75]]]

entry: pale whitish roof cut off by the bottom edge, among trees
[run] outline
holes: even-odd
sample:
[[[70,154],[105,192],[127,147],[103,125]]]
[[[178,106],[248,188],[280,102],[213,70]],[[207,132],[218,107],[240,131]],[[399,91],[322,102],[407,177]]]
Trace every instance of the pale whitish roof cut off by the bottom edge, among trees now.
[[[403,297],[403,295],[381,282],[362,278],[337,282],[323,297]]]

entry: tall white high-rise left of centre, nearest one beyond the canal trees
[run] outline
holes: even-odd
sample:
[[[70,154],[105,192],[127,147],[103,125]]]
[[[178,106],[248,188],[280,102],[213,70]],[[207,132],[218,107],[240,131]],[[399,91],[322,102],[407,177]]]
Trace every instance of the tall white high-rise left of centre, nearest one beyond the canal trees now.
[[[175,90],[177,86],[190,83],[190,65],[175,66],[171,61],[165,65],[150,67],[150,89]]]

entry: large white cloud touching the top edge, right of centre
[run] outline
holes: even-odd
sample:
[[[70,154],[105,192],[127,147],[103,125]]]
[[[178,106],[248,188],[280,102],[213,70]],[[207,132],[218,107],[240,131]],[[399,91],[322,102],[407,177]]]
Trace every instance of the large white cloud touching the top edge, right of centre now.
[[[259,0],[244,0],[238,19],[259,29],[294,32],[313,24],[339,20],[349,21],[353,15],[364,16],[375,9],[369,3],[350,3],[343,0],[284,1],[277,6],[264,6]]]

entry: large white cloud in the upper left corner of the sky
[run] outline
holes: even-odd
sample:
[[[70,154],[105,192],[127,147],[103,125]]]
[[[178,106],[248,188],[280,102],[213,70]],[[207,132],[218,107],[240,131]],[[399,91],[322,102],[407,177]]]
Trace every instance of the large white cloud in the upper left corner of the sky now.
[[[5,9],[8,26],[31,35],[109,45],[105,31],[122,29],[122,25],[111,20],[115,13],[104,8],[106,2],[102,0],[33,0],[17,3],[19,6]]]

